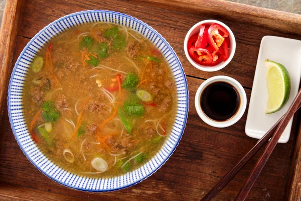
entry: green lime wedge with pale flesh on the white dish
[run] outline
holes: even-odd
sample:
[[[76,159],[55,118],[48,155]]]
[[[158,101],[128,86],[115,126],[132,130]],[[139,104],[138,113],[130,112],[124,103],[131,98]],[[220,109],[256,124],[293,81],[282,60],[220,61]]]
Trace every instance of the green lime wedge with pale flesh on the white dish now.
[[[290,79],[286,68],[280,63],[265,60],[268,98],[265,114],[279,111],[286,104],[290,92]]]

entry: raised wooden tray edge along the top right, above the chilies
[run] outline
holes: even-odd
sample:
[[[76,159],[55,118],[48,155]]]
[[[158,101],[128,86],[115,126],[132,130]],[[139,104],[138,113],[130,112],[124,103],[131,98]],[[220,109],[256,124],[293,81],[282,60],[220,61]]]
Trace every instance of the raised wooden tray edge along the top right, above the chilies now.
[[[132,0],[137,4],[144,4],[158,8],[185,11],[191,13],[213,13],[215,15],[227,16],[232,20],[248,18],[254,25],[263,25],[263,28],[272,30],[284,30],[284,33],[300,34],[301,15],[259,8],[223,0]],[[173,5],[173,6],[171,6]],[[205,19],[200,19],[200,21]],[[268,26],[266,26],[268,25]]]

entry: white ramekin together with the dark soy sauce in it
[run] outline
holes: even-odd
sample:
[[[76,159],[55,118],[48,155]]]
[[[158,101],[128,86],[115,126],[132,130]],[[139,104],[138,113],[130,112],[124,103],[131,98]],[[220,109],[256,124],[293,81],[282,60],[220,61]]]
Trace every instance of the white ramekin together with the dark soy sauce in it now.
[[[214,76],[204,81],[195,96],[195,107],[208,125],[225,128],[238,122],[247,107],[242,85],[228,76]]]

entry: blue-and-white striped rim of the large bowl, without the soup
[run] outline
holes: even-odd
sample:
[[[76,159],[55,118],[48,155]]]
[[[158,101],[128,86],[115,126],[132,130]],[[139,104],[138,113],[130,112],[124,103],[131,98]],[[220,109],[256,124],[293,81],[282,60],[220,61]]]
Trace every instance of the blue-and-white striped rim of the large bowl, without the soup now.
[[[167,58],[177,83],[178,112],[172,133],[159,153],[137,170],[111,178],[91,178],[68,172],[45,156],[31,138],[24,120],[22,93],[30,63],[48,40],[66,29],[91,23],[110,22],[131,28],[152,41]],[[62,17],[41,30],[24,48],[9,85],[8,110],[15,138],[26,157],[49,178],[84,191],[113,191],[134,185],[156,172],[173,154],[183,135],[188,116],[188,86],[181,62],[170,44],[152,27],[131,16],[111,11],[83,11]]]

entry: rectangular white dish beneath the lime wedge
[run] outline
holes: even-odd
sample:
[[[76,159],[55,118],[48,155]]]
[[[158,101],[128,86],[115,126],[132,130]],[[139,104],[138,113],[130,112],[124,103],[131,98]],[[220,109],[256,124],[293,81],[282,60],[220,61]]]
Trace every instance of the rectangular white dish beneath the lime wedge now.
[[[268,92],[266,87],[266,68],[264,61],[268,59],[282,64],[290,76],[290,95],[286,105],[278,112],[265,114]],[[301,41],[264,36],[260,43],[255,76],[252,86],[245,132],[252,138],[260,139],[281,116],[287,111],[293,98],[298,92],[301,78]],[[286,143],[289,139],[292,120],[288,123],[279,143]]]

